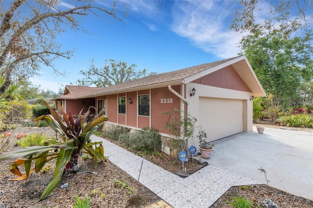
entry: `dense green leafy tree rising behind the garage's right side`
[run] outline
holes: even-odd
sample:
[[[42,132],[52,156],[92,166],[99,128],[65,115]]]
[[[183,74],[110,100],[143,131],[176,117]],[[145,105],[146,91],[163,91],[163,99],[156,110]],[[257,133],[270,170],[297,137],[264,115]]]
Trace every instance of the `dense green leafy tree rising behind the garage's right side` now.
[[[313,79],[311,42],[310,32],[286,39],[276,30],[267,36],[256,33],[242,39],[247,59],[266,92],[276,96],[276,104],[294,104],[301,83]]]

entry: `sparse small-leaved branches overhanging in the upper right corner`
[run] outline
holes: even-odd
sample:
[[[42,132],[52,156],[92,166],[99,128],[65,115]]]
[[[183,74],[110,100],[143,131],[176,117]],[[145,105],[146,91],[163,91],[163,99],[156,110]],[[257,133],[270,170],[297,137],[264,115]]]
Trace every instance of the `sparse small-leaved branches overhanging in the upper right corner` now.
[[[240,0],[230,30],[267,33],[272,28],[285,36],[312,27],[312,0]]]

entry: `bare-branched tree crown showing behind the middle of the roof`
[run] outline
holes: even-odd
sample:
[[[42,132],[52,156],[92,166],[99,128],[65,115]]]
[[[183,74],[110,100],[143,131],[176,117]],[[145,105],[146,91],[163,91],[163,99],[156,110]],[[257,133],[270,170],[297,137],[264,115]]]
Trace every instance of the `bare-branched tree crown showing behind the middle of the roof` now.
[[[127,65],[126,62],[116,62],[115,60],[106,60],[103,67],[96,67],[94,62],[88,70],[80,71],[84,75],[82,80],[77,80],[75,85],[106,87],[114,84],[125,83],[135,79],[155,75],[156,72],[147,73],[146,69],[136,70],[136,64]],[[71,83],[73,84],[73,83]]]

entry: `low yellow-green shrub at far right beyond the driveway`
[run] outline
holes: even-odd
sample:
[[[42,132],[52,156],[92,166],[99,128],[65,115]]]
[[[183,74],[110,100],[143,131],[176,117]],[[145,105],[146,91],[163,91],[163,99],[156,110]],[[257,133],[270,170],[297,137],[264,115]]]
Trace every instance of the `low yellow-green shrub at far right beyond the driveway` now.
[[[295,114],[290,116],[282,116],[277,121],[286,126],[309,127],[313,128],[313,116],[309,114]]]

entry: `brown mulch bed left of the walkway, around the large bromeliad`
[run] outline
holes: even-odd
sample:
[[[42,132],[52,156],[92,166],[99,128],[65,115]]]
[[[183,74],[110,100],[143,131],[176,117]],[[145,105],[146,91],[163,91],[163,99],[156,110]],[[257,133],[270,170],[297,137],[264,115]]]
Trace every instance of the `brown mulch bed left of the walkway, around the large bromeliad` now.
[[[4,152],[19,148],[19,146],[15,146],[17,133],[42,132],[55,135],[50,127],[17,128],[12,132]],[[64,174],[60,184],[45,199],[39,201],[43,190],[51,180],[55,160],[50,161],[51,165],[43,168],[45,172],[33,172],[27,180],[8,181],[8,179],[17,178],[9,171],[13,161],[1,161],[0,163],[0,191],[6,190],[5,193],[0,194],[0,203],[3,203],[5,208],[72,208],[76,196],[84,199],[86,195],[90,201],[90,208],[145,208],[161,200],[155,193],[138,183],[109,160],[106,160],[106,163],[99,162],[98,167],[95,168],[93,159],[79,157],[79,170],[76,173]],[[21,172],[23,171],[21,168]],[[134,192],[129,194],[128,188],[121,190],[121,186],[112,183],[114,180],[125,183]],[[68,187],[61,188],[65,183],[68,184]]]

